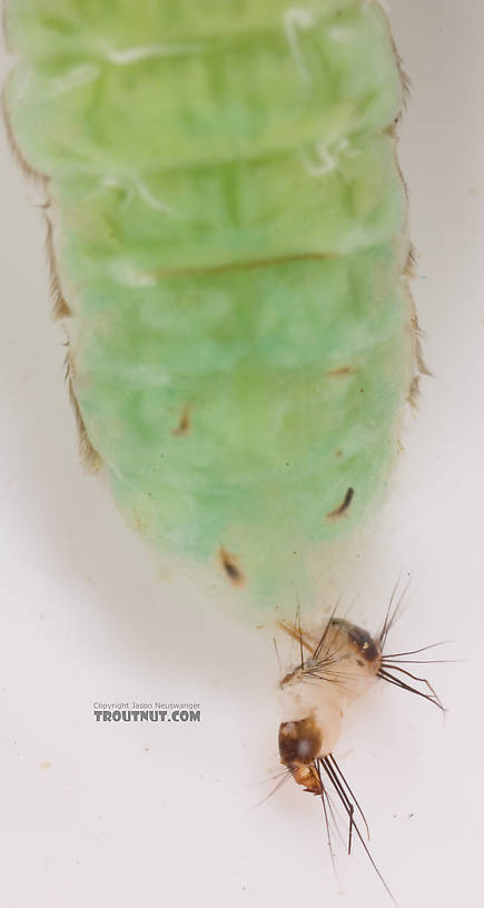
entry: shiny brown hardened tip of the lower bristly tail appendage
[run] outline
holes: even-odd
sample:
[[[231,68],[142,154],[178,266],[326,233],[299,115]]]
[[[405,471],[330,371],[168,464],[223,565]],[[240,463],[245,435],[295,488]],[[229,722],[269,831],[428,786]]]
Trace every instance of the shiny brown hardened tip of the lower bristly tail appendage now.
[[[280,762],[292,772],[297,784],[313,794],[322,793],[316,760],[322,749],[320,731],[312,715],[279,726]]]

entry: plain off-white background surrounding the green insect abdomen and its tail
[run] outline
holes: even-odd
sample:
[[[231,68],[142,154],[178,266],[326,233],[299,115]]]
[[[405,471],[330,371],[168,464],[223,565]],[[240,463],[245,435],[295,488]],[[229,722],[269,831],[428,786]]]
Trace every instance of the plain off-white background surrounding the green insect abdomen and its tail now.
[[[394,0],[392,19],[413,81],[401,162],[435,378],[340,592],[375,626],[411,571],[395,649],[452,639],[442,655],[463,661],[425,667],[445,722],[388,685],[348,717],[337,756],[399,906],[445,908],[482,892],[484,7]],[[256,806],[277,766],[270,641],[188,581],[161,582],[82,475],[40,199],[3,138],[1,155],[2,905],[388,905],[358,849],[335,879],[316,799],[288,783]],[[92,701],[118,699],[199,701],[203,721],[96,724]]]

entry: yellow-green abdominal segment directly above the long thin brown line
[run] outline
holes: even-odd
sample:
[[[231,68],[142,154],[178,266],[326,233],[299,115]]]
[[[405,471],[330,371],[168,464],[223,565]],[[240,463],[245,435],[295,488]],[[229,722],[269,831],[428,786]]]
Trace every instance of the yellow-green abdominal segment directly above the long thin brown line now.
[[[316,176],[300,149],[146,179],[55,179],[69,276],[147,283],[236,261],[346,255],[398,237],[405,194],[392,139],[360,137],[328,155],[328,172]]]

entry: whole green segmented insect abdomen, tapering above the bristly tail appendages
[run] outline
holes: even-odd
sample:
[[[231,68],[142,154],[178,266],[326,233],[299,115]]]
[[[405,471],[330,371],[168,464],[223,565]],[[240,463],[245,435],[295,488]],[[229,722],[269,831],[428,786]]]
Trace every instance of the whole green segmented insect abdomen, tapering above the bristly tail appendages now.
[[[263,605],[310,596],[417,381],[385,14],[10,0],[7,32],[85,446],[164,550]]]

